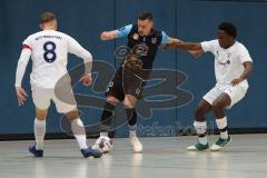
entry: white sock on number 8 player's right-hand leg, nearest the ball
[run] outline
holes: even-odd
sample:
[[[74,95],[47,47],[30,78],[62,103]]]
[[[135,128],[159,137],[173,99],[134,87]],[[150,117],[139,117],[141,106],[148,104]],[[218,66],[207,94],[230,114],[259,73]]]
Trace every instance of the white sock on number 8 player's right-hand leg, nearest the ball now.
[[[72,134],[75,135],[75,138],[80,149],[88,148],[85,126],[80,118],[73,119],[71,121],[71,130],[72,130]]]

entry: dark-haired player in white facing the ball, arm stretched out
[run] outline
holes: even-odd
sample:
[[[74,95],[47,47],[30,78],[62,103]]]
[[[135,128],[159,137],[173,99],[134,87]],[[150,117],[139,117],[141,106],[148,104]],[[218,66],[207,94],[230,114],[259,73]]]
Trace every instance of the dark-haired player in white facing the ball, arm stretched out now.
[[[230,142],[227,132],[226,108],[240,101],[248,89],[248,77],[253,71],[253,60],[246,47],[236,41],[237,29],[230,22],[218,26],[218,39],[201,43],[184,42],[168,44],[167,48],[178,48],[201,52],[211,52],[215,56],[215,76],[217,83],[199,102],[195,111],[195,129],[198,134],[198,142],[188,147],[188,150],[205,150],[209,148],[206,137],[207,123],[205,116],[212,111],[216,123],[220,130],[219,139],[210,147],[217,151]]]

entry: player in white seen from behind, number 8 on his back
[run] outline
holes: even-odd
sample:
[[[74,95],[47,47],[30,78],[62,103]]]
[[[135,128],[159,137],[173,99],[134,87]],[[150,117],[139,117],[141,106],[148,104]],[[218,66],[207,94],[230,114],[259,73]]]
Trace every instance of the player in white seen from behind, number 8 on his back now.
[[[71,130],[78,141],[83,157],[100,157],[101,152],[87,146],[83,123],[80,119],[77,105],[66,103],[58,99],[55,87],[58,80],[65,76],[68,63],[68,52],[80,57],[85,61],[86,72],[81,78],[85,86],[89,86],[91,78],[92,56],[83,49],[73,38],[57,30],[57,19],[53,13],[44,12],[40,18],[42,31],[29,36],[22,43],[22,51],[18,61],[16,73],[16,91],[19,106],[22,106],[28,95],[21,87],[21,81],[29,59],[32,60],[30,83],[32,100],[36,106],[34,137],[36,145],[29,147],[34,157],[43,156],[43,139],[46,134],[46,119],[50,101],[56,105],[58,112],[66,115],[71,121]],[[71,87],[70,82],[66,87]],[[73,97],[73,95],[71,95]],[[75,99],[73,99],[75,100]]]

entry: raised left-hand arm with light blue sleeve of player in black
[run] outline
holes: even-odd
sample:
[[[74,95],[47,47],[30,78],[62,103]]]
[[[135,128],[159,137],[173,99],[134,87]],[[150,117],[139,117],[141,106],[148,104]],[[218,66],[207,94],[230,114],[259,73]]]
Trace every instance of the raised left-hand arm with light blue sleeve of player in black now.
[[[116,38],[127,37],[129,34],[131,28],[132,28],[132,24],[128,24],[128,26],[125,26],[125,27],[122,27],[118,30],[103,31],[100,34],[100,39],[103,40],[103,41],[107,41],[107,40],[112,40],[112,39],[116,39]]]

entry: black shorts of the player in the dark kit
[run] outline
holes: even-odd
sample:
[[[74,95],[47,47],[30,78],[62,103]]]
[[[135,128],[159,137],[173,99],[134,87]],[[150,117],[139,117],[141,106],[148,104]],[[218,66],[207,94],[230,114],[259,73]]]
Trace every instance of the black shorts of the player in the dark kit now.
[[[130,69],[120,67],[116,70],[106,95],[112,96],[120,101],[125,100],[126,95],[131,95],[140,99],[145,85],[146,80],[140,75]]]

